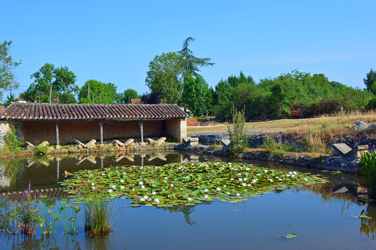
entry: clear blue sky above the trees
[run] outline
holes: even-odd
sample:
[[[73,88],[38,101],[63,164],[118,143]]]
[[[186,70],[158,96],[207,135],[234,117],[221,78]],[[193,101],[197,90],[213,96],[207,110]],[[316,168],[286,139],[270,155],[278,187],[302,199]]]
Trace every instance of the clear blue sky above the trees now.
[[[364,88],[376,69],[376,1],[3,1],[0,41],[11,54],[20,90],[44,63],[86,80],[138,93],[156,55],[179,51],[188,37],[209,86],[231,74],[260,78],[299,71]],[[4,93],[6,98],[7,93]]]

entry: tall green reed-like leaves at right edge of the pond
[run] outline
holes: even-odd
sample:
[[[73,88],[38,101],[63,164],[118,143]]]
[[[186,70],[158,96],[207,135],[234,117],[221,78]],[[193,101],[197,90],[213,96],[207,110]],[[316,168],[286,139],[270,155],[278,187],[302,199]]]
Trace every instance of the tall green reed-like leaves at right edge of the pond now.
[[[374,199],[376,198],[376,150],[362,153],[361,156],[362,168],[360,170],[366,182],[368,197]]]

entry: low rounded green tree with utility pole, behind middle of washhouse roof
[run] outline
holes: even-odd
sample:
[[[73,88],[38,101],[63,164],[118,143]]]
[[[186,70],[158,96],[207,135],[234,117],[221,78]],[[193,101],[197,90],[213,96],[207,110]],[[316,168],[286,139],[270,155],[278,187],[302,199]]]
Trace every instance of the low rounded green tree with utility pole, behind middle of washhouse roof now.
[[[90,89],[90,98],[88,96],[88,88]],[[113,104],[117,102],[118,94],[117,86],[113,83],[102,83],[97,80],[87,80],[79,89],[78,99],[80,103],[101,103]],[[94,95],[94,102],[93,102]],[[121,100],[122,102],[123,100]]]

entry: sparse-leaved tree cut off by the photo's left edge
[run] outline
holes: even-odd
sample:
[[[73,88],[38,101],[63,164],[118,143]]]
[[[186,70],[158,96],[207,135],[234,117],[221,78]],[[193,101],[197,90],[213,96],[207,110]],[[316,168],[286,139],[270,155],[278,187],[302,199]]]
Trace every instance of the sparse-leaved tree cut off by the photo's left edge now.
[[[21,60],[15,62],[13,57],[9,55],[12,48],[12,41],[4,41],[0,44],[0,99],[3,97],[3,90],[15,90],[18,88],[18,77],[14,70],[20,66]]]

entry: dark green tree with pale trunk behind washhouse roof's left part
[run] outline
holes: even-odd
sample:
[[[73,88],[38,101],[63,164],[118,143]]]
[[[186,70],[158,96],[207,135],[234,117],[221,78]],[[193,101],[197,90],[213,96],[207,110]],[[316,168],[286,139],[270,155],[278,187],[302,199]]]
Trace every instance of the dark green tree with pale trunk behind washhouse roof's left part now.
[[[23,92],[25,101],[77,103],[74,97],[78,90],[75,84],[76,75],[67,66],[55,68],[55,65],[45,63],[39,71],[30,75],[30,78],[34,79],[34,82]]]

